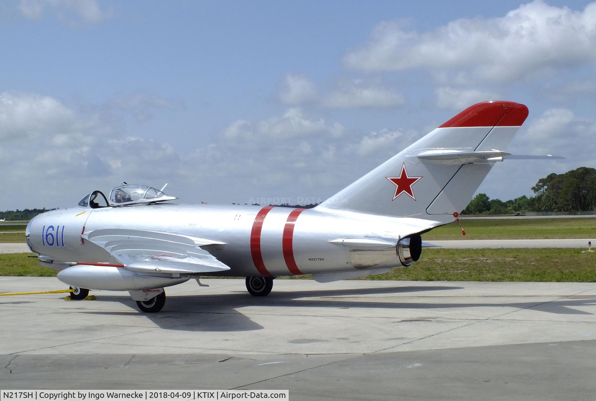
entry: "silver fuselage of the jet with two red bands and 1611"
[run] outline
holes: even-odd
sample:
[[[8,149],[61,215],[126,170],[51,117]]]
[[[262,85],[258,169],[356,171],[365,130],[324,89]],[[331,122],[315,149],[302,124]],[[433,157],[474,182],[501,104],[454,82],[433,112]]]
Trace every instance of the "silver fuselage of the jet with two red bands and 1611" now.
[[[29,247],[58,269],[64,268],[64,262],[116,263],[81,235],[127,228],[225,243],[204,248],[231,269],[209,275],[288,276],[402,266],[395,246],[399,238],[436,225],[429,220],[332,208],[151,204],[52,210],[31,220],[26,237]],[[337,241],[354,238],[393,246],[346,246]]]

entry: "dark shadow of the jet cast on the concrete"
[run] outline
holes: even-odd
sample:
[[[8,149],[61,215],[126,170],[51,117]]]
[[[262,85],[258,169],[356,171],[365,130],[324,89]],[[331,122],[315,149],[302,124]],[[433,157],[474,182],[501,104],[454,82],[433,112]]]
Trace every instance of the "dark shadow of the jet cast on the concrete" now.
[[[555,301],[503,302],[503,303],[411,303],[375,301],[375,297],[362,300],[362,297],[374,294],[406,293],[417,291],[460,290],[462,287],[394,287],[394,288],[351,288],[342,290],[316,291],[272,291],[267,297],[252,297],[246,292],[234,291],[229,294],[209,294],[208,291],[195,295],[167,297],[166,306],[160,313],[146,313],[154,324],[164,329],[182,331],[254,331],[263,329],[248,316],[237,309],[247,306],[261,307],[328,307],[333,309],[443,309],[469,307],[510,307],[532,309],[559,315],[594,315],[594,313],[573,309],[573,307],[596,306],[596,299],[563,299]],[[107,297],[101,297],[107,300]],[[117,301],[136,309],[129,297],[114,296],[109,300]],[[504,309],[504,312],[510,310]],[[134,312],[80,312],[97,315],[126,315]],[[141,312],[139,312],[141,313]],[[266,314],[266,312],[253,312]],[[273,315],[273,313],[272,313]]]

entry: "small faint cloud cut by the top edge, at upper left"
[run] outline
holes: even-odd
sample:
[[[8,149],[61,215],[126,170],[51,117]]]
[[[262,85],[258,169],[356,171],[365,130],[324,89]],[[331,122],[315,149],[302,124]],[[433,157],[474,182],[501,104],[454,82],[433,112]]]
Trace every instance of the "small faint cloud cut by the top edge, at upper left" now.
[[[69,24],[97,24],[114,15],[114,10],[102,10],[96,0],[20,0],[18,10],[30,20],[39,20],[44,13],[54,14]]]

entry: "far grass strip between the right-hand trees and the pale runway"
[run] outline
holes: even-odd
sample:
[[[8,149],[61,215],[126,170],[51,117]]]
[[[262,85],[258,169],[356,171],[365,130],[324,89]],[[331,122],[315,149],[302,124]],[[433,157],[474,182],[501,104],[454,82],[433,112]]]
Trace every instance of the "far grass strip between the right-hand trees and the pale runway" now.
[[[529,240],[541,238],[596,238],[596,217],[581,219],[478,219],[460,220],[422,236],[433,240]]]

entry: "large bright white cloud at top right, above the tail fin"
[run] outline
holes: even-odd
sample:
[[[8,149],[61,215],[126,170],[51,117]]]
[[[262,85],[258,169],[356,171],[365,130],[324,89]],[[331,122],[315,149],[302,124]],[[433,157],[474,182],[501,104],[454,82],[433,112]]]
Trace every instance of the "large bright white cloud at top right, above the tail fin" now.
[[[350,69],[366,72],[424,67],[471,73],[482,79],[535,76],[596,59],[596,3],[583,11],[541,0],[504,17],[460,18],[428,32],[382,22],[367,45],[344,56]]]

